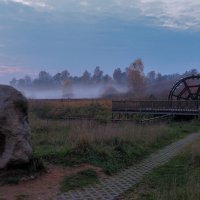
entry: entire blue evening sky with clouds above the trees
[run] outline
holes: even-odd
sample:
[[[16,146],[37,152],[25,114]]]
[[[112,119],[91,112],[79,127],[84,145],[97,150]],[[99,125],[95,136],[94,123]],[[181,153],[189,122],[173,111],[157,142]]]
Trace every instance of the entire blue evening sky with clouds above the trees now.
[[[200,70],[200,0],[0,0],[0,83],[46,70]]]

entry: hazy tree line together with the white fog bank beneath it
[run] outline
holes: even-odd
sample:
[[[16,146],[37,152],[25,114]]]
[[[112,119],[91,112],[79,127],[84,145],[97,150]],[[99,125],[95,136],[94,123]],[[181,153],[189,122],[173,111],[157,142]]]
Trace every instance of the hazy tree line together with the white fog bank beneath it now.
[[[165,99],[173,84],[181,77],[198,74],[189,69],[182,74],[162,75],[150,71],[144,73],[141,59],[136,59],[124,71],[116,68],[112,76],[104,74],[99,66],[93,74],[85,70],[81,76],[71,76],[68,70],[55,75],[40,71],[37,78],[26,75],[13,78],[10,85],[21,90],[29,98],[145,98]],[[48,94],[45,92],[49,92]],[[40,92],[41,95],[37,95]]]

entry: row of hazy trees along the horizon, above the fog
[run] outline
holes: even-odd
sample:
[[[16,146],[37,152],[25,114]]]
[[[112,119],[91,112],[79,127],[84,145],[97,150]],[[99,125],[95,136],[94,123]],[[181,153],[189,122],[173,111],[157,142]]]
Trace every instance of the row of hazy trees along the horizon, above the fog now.
[[[86,86],[103,84],[110,88],[110,90],[107,88],[107,91],[110,92],[115,90],[114,86],[126,86],[129,94],[143,96],[144,92],[151,95],[153,93],[152,90],[154,90],[154,93],[156,93],[156,90],[164,93],[165,90],[169,90],[169,85],[172,82],[178,80],[181,76],[190,74],[198,74],[198,71],[191,69],[183,74],[162,75],[152,70],[145,74],[142,60],[136,59],[124,71],[119,67],[116,68],[112,76],[104,74],[99,66],[95,67],[93,73],[85,70],[81,76],[72,76],[68,70],[56,73],[53,76],[46,71],[40,71],[38,77],[34,79],[28,75],[18,80],[13,78],[10,81],[10,85],[16,88],[47,89],[63,87],[66,83]]]

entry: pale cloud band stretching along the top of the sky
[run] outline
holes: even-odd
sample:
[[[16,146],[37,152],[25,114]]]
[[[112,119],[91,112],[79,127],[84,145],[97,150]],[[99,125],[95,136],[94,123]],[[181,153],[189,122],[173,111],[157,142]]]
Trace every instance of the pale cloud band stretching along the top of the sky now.
[[[142,19],[173,29],[200,29],[200,0],[3,0],[59,14],[59,19]],[[51,15],[54,16],[54,15]],[[149,21],[150,20],[150,21]]]

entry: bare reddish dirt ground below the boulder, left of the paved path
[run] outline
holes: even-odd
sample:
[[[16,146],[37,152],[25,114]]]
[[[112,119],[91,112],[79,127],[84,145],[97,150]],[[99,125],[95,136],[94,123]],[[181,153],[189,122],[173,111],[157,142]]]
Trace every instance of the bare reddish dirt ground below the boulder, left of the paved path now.
[[[101,169],[82,164],[79,167],[69,168],[49,166],[48,173],[37,179],[20,182],[18,185],[0,186],[0,200],[47,200],[59,193],[59,182],[64,176],[75,174],[85,169],[95,169],[99,174]]]

